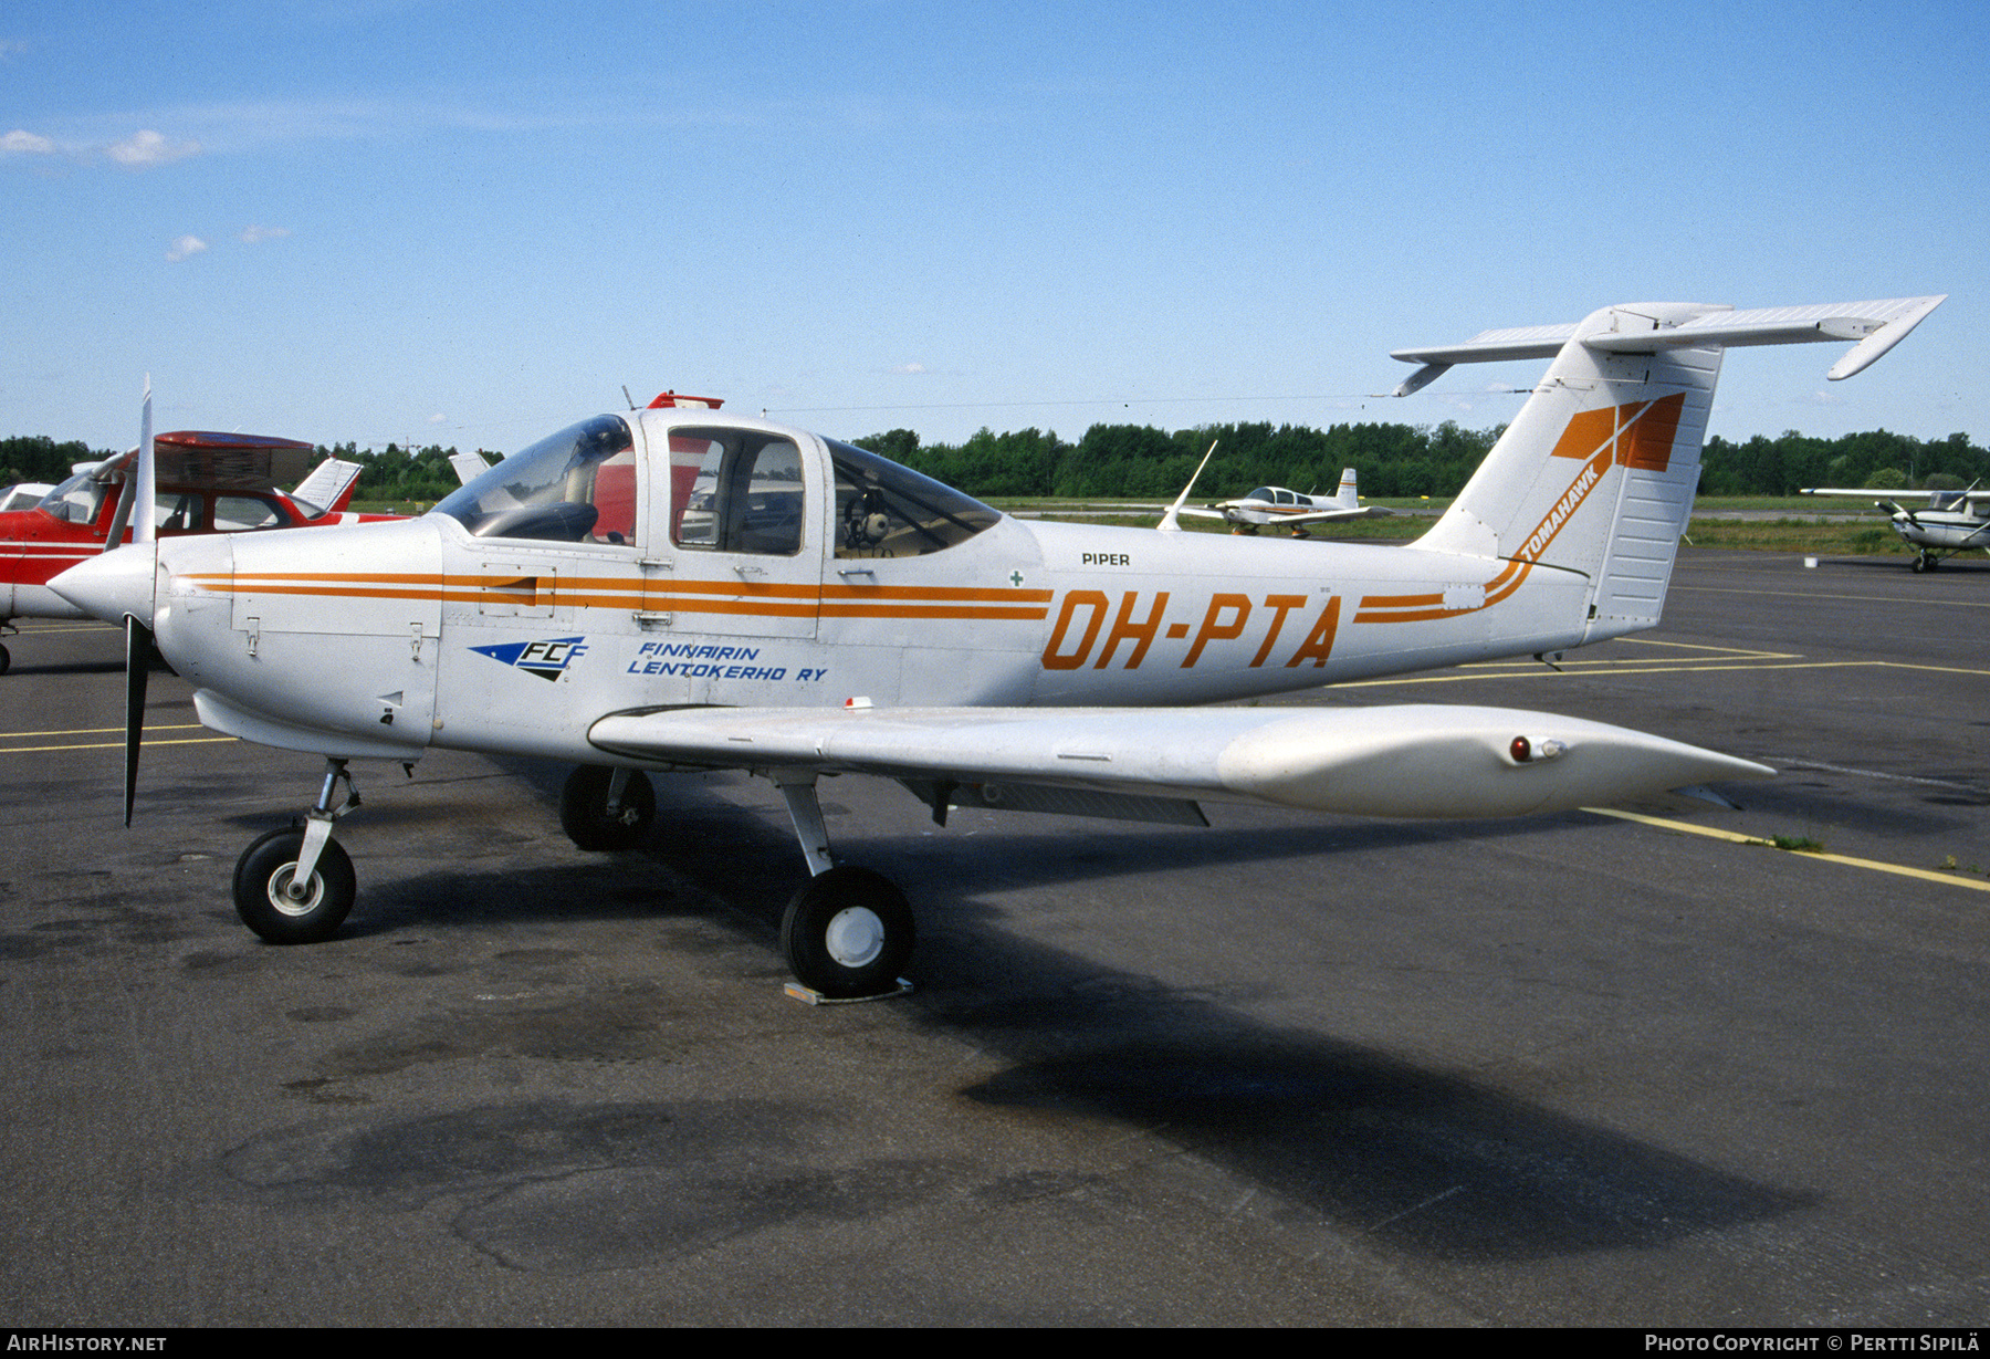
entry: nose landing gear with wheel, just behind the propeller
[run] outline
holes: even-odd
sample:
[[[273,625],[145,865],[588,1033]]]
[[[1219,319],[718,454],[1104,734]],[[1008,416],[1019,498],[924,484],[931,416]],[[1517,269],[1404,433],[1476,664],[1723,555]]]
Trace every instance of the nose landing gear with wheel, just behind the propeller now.
[[[338,786],[346,798],[332,806]],[[235,862],[235,911],[271,943],[330,939],[352,909],[352,860],[332,840],[332,822],[360,804],[346,762],[324,760],[324,788],[304,826],[273,830]]]

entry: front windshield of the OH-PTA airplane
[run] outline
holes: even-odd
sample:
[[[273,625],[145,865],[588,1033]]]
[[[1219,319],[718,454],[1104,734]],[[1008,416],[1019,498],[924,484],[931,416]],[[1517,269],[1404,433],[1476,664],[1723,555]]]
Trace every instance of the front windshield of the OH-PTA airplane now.
[[[432,513],[478,537],[635,539],[635,442],[621,416],[567,426],[450,493]]]

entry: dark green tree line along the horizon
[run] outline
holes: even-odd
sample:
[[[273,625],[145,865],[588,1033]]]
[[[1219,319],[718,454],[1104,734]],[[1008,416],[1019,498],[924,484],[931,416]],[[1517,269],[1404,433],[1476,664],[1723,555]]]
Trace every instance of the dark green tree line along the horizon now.
[[[1007,434],[983,428],[963,444],[921,444],[911,430],[852,442],[989,499],[1172,499],[1212,442],[1216,456],[1196,482],[1200,497],[1240,495],[1256,485],[1331,493],[1341,468],[1355,468],[1363,495],[1397,499],[1457,495],[1500,432],[1465,430],[1453,420],[1439,426],[1335,424],[1325,430],[1268,422],[1204,424],[1172,434],[1154,426],[1094,424],[1077,444],[1035,428]],[[318,456],[364,468],[356,489],[360,499],[442,499],[458,485],[450,468],[454,454],[454,448],[438,444],[420,450],[388,444],[380,452],[354,444],[318,446]],[[109,450],[92,450],[80,440],[6,438],[0,440],[0,485],[60,482],[70,476],[70,464],[109,456]],[[1990,452],[1966,434],[1916,440],[1873,430],[1825,440],[1789,430],[1779,438],[1757,434],[1741,444],[1709,438],[1699,493],[1793,495],[1803,485],[1960,489],[1978,480],[1990,482]]]

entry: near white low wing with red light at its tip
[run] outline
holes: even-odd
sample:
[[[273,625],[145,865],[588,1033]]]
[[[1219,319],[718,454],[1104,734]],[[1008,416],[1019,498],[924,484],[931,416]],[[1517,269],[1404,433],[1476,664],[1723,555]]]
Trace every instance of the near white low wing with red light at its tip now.
[[[635,708],[589,730],[651,766],[880,774],[1264,802],[1353,816],[1522,816],[1773,770],[1508,708]]]

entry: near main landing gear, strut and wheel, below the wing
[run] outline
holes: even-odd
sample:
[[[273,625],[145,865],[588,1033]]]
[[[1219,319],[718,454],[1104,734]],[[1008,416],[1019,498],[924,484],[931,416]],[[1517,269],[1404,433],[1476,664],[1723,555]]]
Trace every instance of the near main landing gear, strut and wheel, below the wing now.
[[[780,949],[806,991],[802,999],[856,1001],[909,989],[897,975],[913,945],[905,893],[884,874],[836,864],[814,772],[776,772],[774,782],[814,874],[780,919]]]

